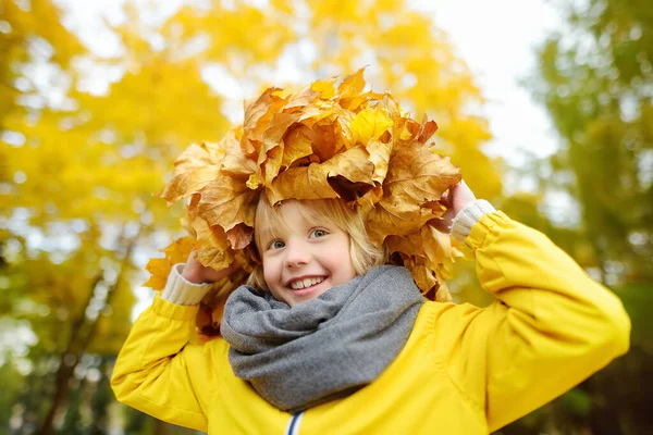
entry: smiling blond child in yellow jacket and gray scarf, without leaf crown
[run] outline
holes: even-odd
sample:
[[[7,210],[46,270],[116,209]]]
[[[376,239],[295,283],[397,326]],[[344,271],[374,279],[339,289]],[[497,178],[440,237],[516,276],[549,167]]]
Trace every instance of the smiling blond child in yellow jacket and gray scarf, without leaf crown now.
[[[202,283],[236,266],[173,268],[118,358],[118,399],[210,434],[482,434],[628,350],[620,301],[544,235],[465,183],[443,202],[490,307],[426,301],[340,199],[261,196],[250,283],[264,291],[239,287],[224,338],[189,345]]]

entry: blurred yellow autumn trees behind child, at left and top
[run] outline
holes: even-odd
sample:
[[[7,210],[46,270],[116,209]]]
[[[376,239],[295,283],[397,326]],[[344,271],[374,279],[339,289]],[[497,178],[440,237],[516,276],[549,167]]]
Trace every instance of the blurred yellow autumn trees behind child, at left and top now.
[[[12,37],[23,40],[15,47],[40,50],[37,65],[27,64],[25,54],[0,65],[11,72],[2,76],[8,86],[0,100],[15,101],[0,117],[8,276],[0,306],[29,322],[38,339],[23,408],[14,408],[16,421],[38,422],[42,434],[89,431],[79,425],[85,415],[106,415],[107,391],[88,393],[107,388],[106,378],[84,377],[99,370],[85,356],[115,355],[124,340],[130,289],[145,281],[144,259],[181,229],[181,208],[168,209],[152,194],[183,148],[218,140],[241,114],[225,96],[229,84],[254,96],[271,82],[298,87],[369,64],[374,88],[392,89],[417,116],[428,110],[443,124],[442,151],[479,196],[501,191],[496,162],[482,152],[486,122],[467,111],[482,103],[469,71],[445,35],[404,1],[186,1],[170,14],[155,2],[126,2],[124,20],[106,23],[120,40],[120,52],[108,58],[88,52],[50,2],[30,3],[32,12],[53,11],[44,35],[23,26],[32,23],[20,13],[24,2],[4,3],[14,12],[3,15],[0,35],[2,28],[22,32]],[[94,73],[109,70],[120,74],[98,90]],[[46,83],[39,82],[44,76]]]

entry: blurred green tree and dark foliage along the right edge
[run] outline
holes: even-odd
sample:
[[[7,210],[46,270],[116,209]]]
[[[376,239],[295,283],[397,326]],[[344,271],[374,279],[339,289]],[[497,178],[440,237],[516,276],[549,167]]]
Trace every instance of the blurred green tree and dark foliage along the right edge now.
[[[651,433],[644,403],[653,393],[644,386],[653,384],[653,5],[559,4],[566,28],[543,44],[528,85],[562,139],[541,187],[574,198],[580,222],[549,234],[616,290],[633,333],[626,357],[547,407],[546,419],[531,417],[529,433],[551,422],[563,432]],[[502,433],[526,433],[526,420]]]

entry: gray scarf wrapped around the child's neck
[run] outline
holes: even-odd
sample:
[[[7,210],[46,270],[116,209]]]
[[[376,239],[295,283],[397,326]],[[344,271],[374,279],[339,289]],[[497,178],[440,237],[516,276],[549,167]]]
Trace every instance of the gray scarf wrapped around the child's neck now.
[[[404,348],[423,300],[410,272],[394,265],[294,307],[241,286],[221,333],[234,374],[278,409],[297,412],[374,381]]]

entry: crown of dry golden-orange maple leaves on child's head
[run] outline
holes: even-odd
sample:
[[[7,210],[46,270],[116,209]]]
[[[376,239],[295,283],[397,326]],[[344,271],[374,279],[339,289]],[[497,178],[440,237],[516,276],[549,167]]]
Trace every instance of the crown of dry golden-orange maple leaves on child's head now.
[[[432,299],[446,300],[445,258],[457,254],[448,235],[429,224],[444,212],[442,194],[461,178],[447,157],[434,152],[438,124],[410,119],[390,94],[364,91],[364,70],[317,80],[296,94],[269,88],[245,104],[245,121],[218,144],[189,146],[175,161],[174,177],[160,196],[189,198],[193,237],[153,259],[146,285],[163,288],[172,264],[193,248],[205,265],[241,273],[214,284],[198,325],[215,326],[223,302],[243,284],[257,259],[252,243],[261,192],[279,204],[288,199],[342,198],[359,208],[374,245],[385,245]],[[439,290],[440,289],[440,290]]]

